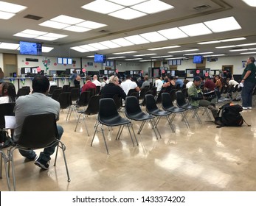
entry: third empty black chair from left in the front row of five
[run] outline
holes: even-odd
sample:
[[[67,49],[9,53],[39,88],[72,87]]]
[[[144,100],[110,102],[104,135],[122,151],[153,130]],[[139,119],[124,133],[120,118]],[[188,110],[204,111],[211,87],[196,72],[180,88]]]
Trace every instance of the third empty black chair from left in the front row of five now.
[[[159,133],[159,136],[160,138],[162,138],[160,132],[159,132],[159,129],[157,129],[157,124],[159,124],[159,121],[160,121],[160,118],[162,118],[163,116],[165,116],[167,118],[167,121],[170,125],[170,128],[172,129],[172,131],[174,131],[173,129],[173,125],[170,124],[170,112],[167,112],[167,111],[164,111],[164,110],[160,110],[157,106],[156,106],[156,102],[155,102],[155,99],[153,98],[153,95],[152,94],[147,94],[145,95],[145,99],[146,99],[146,110],[147,110],[147,113],[153,115],[156,117],[156,120],[155,120],[155,124],[154,124],[154,128],[156,128],[156,131]],[[157,136],[156,136],[156,139]]]

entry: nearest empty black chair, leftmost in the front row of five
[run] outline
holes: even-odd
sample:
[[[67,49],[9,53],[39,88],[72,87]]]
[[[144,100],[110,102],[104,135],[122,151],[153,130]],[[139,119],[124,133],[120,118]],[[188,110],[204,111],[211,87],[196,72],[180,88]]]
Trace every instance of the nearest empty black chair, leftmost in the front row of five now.
[[[97,125],[95,127],[94,136],[91,140],[91,146],[92,146],[92,143],[94,141],[94,137],[95,137],[95,134],[97,132],[97,128],[99,127],[100,124],[102,124],[102,126],[105,125],[107,127],[120,126],[120,128],[117,132],[116,140],[120,139],[120,136],[122,134],[122,129],[126,125],[128,127],[128,131],[129,131],[130,136],[131,136],[131,141],[134,145],[134,139],[131,135],[131,129],[133,130],[133,132],[134,132],[134,129],[132,127],[131,121],[129,121],[128,119],[122,118],[119,115],[119,113],[117,112],[117,106],[114,103],[114,99],[111,99],[111,98],[100,99],[98,122],[97,122]],[[131,129],[130,129],[130,127],[131,127]],[[107,146],[107,143],[105,141],[105,135],[104,135],[103,127],[101,127],[100,129],[101,129],[101,132],[103,133],[103,140],[104,140],[104,143],[105,143],[105,149],[107,151],[107,154],[109,154],[108,146]],[[137,145],[139,145],[139,143],[136,139],[135,133],[134,133],[134,138],[136,140]]]

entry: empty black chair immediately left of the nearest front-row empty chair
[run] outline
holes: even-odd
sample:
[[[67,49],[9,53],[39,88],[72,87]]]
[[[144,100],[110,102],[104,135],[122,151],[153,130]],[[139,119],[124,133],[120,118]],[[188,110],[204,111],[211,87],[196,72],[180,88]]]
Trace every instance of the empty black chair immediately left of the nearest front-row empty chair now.
[[[85,92],[83,92],[83,93],[85,93]],[[86,126],[85,117],[86,116],[97,115],[97,113],[99,113],[100,98],[101,98],[100,95],[91,96],[91,98],[89,100],[88,107],[86,108],[86,110],[80,110],[80,111],[78,110],[77,111],[77,113],[79,113],[80,115],[78,116],[78,119],[77,119],[77,124],[75,126],[75,132],[77,131],[77,125],[78,125],[78,122],[80,120],[80,116],[83,115],[83,122],[84,122],[85,127],[86,127],[87,135],[89,136],[88,128]],[[95,125],[96,124],[97,124],[97,119],[96,119]]]

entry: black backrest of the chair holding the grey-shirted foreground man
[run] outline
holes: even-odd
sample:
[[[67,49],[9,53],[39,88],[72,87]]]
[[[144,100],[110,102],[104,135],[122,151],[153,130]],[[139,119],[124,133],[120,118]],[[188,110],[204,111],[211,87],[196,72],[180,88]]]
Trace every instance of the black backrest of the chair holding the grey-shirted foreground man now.
[[[58,138],[55,114],[27,116],[16,143],[30,149],[44,148]]]

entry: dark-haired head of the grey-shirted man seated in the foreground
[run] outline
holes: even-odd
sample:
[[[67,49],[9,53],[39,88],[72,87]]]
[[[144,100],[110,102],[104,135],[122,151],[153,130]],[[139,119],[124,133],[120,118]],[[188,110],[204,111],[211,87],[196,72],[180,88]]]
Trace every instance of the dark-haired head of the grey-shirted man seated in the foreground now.
[[[49,90],[49,80],[44,75],[38,74],[32,80],[33,93],[47,93]]]

